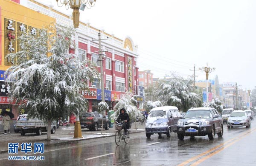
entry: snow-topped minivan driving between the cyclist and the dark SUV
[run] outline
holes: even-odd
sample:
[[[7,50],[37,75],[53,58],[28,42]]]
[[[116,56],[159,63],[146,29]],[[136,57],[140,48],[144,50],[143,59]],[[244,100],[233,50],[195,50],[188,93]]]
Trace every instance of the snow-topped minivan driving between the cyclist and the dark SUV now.
[[[146,137],[157,133],[171,136],[171,132],[176,132],[177,121],[180,119],[180,112],[177,107],[165,106],[153,108],[145,123]]]

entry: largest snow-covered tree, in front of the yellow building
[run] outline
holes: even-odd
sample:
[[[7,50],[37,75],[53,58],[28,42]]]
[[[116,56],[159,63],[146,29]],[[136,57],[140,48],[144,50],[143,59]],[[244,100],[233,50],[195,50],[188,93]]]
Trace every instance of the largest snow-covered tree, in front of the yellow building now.
[[[26,108],[29,117],[47,121],[48,140],[52,120],[86,110],[81,92],[97,74],[90,61],[81,62],[78,55],[67,53],[74,45],[74,32],[53,24],[38,29],[36,35],[24,32],[19,37],[20,51],[7,56],[13,62],[5,72],[10,97],[22,103],[20,108]]]

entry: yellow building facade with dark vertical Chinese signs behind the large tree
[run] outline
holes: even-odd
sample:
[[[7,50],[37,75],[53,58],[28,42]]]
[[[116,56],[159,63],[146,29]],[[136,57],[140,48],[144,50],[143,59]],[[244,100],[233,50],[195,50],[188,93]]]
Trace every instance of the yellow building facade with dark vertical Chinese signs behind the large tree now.
[[[14,102],[8,97],[4,72],[13,64],[5,57],[9,53],[20,51],[17,37],[22,34],[22,31],[36,35],[38,29],[53,22],[55,22],[54,18],[20,5],[19,0],[0,0],[0,112],[12,112],[15,115],[12,120],[15,120],[22,113],[17,112],[17,105],[14,105]],[[13,126],[12,122],[11,126]]]

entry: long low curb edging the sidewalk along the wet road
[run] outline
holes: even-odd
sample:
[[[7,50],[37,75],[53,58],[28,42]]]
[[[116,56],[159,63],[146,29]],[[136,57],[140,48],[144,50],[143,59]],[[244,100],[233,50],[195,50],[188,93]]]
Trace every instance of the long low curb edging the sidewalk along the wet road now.
[[[131,132],[130,134],[132,133],[138,133],[138,132],[145,132],[145,130],[139,130],[139,131],[134,131],[134,132]],[[49,143],[49,144],[44,144],[45,147],[47,146],[52,146],[52,145],[64,145],[64,144],[67,144],[67,143],[73,143],[73,142],[78,142],[78,141],[84,141],[84,140],[91,140],[91,139],[97,139],[97,138],[107,138],[107,137],[113,137],[115,136],[115,134],[112,134],[112,135],[108,135],[108,136],[100,136],[100,137],[92,137],[92,138],[85,138],[85,139],[79,139],[79,140],[63,140],[62,142],[52,142],[52,143]],[[58,139],[54,139],[54,140],[58,140]],[[47,141],[46,141],[47,142]],[[31,146],[33,148],[33,146]],[[19,151],[21,150],[21,148],[19,148]],[[0,151],[0,154],[3,154],[3,153],[8,153],[8,150],[1,150]]]

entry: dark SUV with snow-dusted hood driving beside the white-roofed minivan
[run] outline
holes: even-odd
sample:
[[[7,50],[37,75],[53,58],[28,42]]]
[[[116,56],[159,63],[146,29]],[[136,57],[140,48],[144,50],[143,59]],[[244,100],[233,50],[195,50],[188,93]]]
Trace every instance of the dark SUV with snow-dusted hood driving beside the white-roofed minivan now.
[[[177,122],[177,135],[179,140],[184,136],[205,136],[209,140],[214,139],[215,133],[218,137],[223,135],[223,120],[218,111],[213,107],[192,108],[186,112],[183,119]]]

